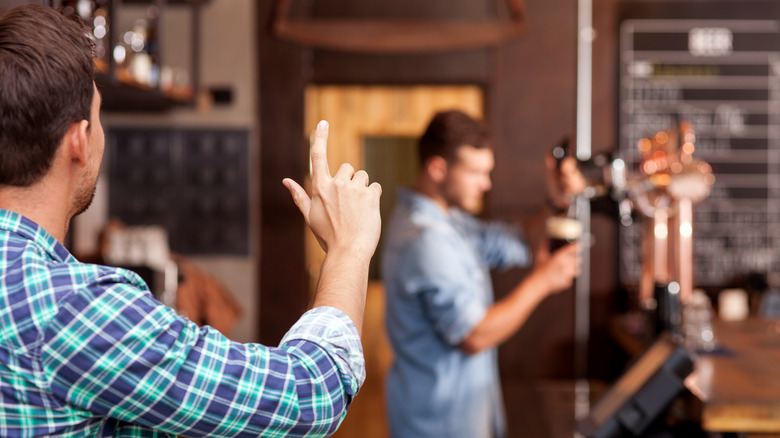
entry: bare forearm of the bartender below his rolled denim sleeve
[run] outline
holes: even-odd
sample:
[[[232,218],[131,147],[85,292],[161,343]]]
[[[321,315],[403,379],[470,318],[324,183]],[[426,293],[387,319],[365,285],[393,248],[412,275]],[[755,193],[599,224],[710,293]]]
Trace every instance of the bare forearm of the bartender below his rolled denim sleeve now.
[[[547,295],[548,287],[541,276],[532,272],[509,295],[487,310],[485,317],[463,340],[460,348],[474,354],[506,341],[522,327]]]

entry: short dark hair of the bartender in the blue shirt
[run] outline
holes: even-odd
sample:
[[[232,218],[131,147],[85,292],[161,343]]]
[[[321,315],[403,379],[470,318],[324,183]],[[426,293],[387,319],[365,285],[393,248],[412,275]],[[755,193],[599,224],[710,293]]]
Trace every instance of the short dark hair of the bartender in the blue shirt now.
[[[490,134],[482,121],[462,111],[442,111],[433,116],[418,146],[420,164],[434,156],[452,162],[461,146],[489,148]]]

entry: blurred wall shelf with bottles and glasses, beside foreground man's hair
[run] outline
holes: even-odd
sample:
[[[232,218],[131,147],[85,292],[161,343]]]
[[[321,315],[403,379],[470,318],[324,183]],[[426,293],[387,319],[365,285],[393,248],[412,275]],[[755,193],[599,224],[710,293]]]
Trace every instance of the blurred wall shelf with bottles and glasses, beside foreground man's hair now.
[[[200,4],[205,2],[58,0],[53,3],[64,14],[81,19],[89,29],[95,42],[96,81],[103,93],[103,108],[157,111],[194,104],[199,77],[196,53]],[[192,45],[189,62],[164,64],[160,22],[169,8],[189,9],[191,38],[185,42]],[[178,12],[173,16],[178,17]],[[178,25],[179,21],[174,23]]]

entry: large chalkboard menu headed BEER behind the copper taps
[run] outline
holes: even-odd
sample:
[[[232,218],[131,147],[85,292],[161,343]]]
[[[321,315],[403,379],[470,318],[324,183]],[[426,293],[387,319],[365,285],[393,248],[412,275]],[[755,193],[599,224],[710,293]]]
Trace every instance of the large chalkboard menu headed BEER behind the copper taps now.
[[[749,272],[779,285],[780,2],[632,1],[619,16],[620,156],[636,169],[640,139],[687,120],[715,175],[694,206],[694,287]],[[620,231],[625,284],[641,229]]]

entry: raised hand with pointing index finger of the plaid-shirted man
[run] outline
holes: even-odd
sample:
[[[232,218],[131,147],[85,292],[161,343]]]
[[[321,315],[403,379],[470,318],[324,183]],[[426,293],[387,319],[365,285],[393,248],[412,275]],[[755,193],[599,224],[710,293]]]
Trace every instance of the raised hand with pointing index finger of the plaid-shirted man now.
[[[292,179],[283,183],[326,252],[347,249],[353,256],[371,257],[381,231],[379,183],[368,184],[368,174],[342,164],[331,177],[327,160],[328,122],[321,121],[311,143],[312,194]]]

